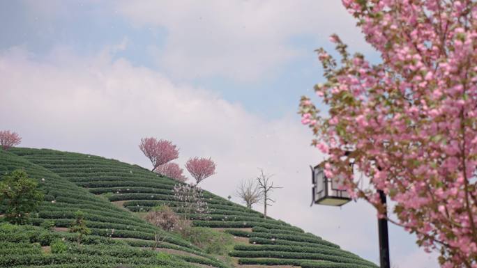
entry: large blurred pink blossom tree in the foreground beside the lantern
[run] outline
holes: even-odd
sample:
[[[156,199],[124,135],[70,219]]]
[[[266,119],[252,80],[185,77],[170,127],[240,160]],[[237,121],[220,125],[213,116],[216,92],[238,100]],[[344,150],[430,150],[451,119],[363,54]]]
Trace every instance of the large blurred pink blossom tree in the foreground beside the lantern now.
[[[330,157],[326,175],[345,176],[354,198],[439,251],[441,267],[477,267],[477,3],[342,2],[382,62],[350,55],[336,35],[340,61],[317,50],[326,82],[315,91],[328,115],[308,97],[300,113]],[[395,217],[377,189],[395,201]]]

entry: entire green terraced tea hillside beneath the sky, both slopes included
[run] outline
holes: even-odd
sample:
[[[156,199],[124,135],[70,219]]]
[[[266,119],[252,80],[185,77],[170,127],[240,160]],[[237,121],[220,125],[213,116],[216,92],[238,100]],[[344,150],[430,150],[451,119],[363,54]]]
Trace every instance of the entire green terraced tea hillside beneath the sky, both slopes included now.
[[[0,173],[16,168],[24,168],[31,178],[38,180],[46,194],[40,211],[33,215],[33,225],[39,226],[46,219],[52,219],[55,228],[47,231],[28,227],[31,230],[24,233],[31,232],[37,237],[15,240],[15,235],[9,232],[22,230],[2,226],[0,238],[8,239],[2,239],[6,244],[0,243],[0,267],[114,267],[119,264],[220,268],[269,265],[377,267],[321,237],[283,221],[264,219],[259,212],[204,191],[212,212],[207,220],[189,215],[193,225],[214,233],[225,232],[233,239],[224,254],[207,254],[208,249],[201,249],[179,235],[165,233],[141,218],[144,212],[157,205],[168,205],[177,214],[181,211],[172,194],[177,182],[136,165],[56,150],[12,148],[9,152],[0,151]],[[67,253],[44,253],[54,237],[73,241],[73,235],[64,231],[70,226],[76,210],[85,212],[86,225],[92,230],[85,242],[89,246],[68,244]],[[38,241],[38,236],[42,233],[45,236],[46,232],[53,238]],[[144,250],[153,245],[155,232],[167,237],[165,242],[160,244],[158,252]],[[41,242],[43,250],[31,242]],[[20,248],[22,250],[16,253],[15,249]],[[72,258],[77,260],[75,264],[70,264]]]

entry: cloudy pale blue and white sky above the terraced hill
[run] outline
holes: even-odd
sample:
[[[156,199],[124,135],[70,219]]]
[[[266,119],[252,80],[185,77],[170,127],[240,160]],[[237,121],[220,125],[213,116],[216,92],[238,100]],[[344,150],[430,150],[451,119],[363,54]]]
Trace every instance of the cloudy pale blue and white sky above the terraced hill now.
[[[168,139],[181,166],[211,157],[216,174],[202,187],[236,202],[241,180],[263,168],[283,187],[270,216],[379,263],[370,205],[310,207],[309,166],[324,155],[297,114],[301,95],[326,111],[312,90],[324,80],[314,50],[332,53],[331,33],[379,62],[355,25],[336,0],[0,0],[0,129],[24,147],[146,168],[140,139]],[[439,267],[389,227],[393,268]]]

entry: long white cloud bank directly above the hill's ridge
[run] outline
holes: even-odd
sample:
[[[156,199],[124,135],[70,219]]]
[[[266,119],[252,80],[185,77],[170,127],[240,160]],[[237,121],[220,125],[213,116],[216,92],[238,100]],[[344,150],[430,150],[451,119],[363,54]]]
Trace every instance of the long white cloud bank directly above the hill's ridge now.
[[[296,115],[264,120],[207,90],[173,84],[123,59],[112,61],[108,50],[79,58],[58,49],[51,57],[42,63],[20,49],[0,52],[1,128],[20,132],[22,145],[149,167],[139,139],[170,139],[181,148],[179,164],[193,156],[216,161],[217,174],[203,187],[224,197],[264,168],[284,187],[273,193],[271,216],[377,261],[376,215],[369,205],[308,207],[308,165],[321,156],[310,148],[310,132]]]

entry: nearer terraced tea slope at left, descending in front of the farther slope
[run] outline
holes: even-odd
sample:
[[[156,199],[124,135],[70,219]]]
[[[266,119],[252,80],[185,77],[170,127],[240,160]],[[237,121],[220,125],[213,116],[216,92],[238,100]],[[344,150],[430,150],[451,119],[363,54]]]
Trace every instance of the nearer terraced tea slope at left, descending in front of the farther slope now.
[[[195,253],[197,256],[188,258],[189,262],[206,263],[215,267],[226,267],[220,262],[211,260],[202,250],[192,246],[176,235],[166,233],[140,219],[135,214],[121,210],[108,200],[95,196],[86,189],[78,187],[73,182],[61,178],[56,173],[32,164],[27,159],[10,152],[0,150],[0,178],[1,175],[15,169],[24,169],[30,178],[38,181],[40,189],[45,193],[45,201],[38,213],[31,215],[31,221],[39,225],[45,220],[53,220],[56,227],[68,227],[73,221],[74,212],[82,210],[86,214],[86,225],[91,228],[91,235],[86,237],[84,244],[76,246],[70,244],[75,236],[68,232],[52,232],[42,228],[16,228],[2,225],[0,228],[0,267],[45,266],[53,267],[113,267],[119,264],[146,265],[146,267],[191,267],[183,257],[171,256],[153,251],[144,251],[142,247],[149,247],[155,232],[166,235],[167,243],[162,247],[175,249],[186,253]],[[0,207],[0,214],[1,214]],[[25,229],[27,228],[27,229]],[[27,234],[26,236],[24,234]],[[23,235],[23,236],[22,236]],[[119,238],[119,239],[112,239]],[[123,239],[124,238],[124,239]],[[133,238],[134,240],[126,240]],[[45,254],[43,251],[22,251],[21,249],[49,246],[54,239],[65,239],[70,248],[67,253]],[[105,245],[107,247],[105,248]],[[75,263],[71,259],[77,260]],[[126,259],[127,258],[127,259]],[[149,265],[149,266],[147,266]]]

